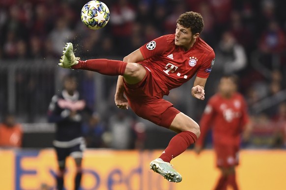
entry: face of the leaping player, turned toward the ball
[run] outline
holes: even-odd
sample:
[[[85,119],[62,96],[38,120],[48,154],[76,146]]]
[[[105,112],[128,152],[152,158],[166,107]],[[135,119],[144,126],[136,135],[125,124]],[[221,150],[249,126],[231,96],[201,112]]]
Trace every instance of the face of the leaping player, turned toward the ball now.
[[[175,33],[175,45],[182,46],[185,50],[191,48],[196,42],[196,38],[199,37],[199,33],[193,34],[191,28],[185,28],[184,26],[177,24]]]

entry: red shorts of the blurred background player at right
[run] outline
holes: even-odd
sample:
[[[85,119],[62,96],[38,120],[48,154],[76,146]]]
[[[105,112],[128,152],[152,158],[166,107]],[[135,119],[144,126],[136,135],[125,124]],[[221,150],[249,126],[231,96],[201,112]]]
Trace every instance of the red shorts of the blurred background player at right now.
[[[230,167],[238,165],[239,145],[215,143],[214,151],[217,157],[218,167]]]

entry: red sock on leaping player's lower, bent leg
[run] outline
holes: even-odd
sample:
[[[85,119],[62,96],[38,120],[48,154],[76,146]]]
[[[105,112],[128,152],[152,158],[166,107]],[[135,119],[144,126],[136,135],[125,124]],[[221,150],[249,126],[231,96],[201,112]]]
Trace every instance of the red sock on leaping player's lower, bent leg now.
[[[159,158],[169,162],[183,153],[191,144],[195,143],[197,136],[190,131],[183,131],[175,135]]]

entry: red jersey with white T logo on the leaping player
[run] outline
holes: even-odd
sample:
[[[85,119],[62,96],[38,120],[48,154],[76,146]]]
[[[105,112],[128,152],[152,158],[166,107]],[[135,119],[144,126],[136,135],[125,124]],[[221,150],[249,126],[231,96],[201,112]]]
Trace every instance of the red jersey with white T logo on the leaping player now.
[[[197,38],[194,46],[187,51],[174,43],[175,34],[161,36],[140,48],[146,67],[160,88],[169,94],[196,73],[207,78],[214,64],[215,53],[202,39]]]

